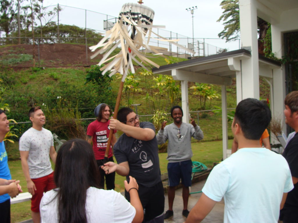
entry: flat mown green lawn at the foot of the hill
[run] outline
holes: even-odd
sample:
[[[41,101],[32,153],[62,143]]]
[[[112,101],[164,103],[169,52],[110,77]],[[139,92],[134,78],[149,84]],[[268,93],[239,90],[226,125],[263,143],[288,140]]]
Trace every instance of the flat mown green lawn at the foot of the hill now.
[[[229,147],[232,145],[232,140],[229,140]],[[212,167],[214,162],[222,159],[222,141],[212,142],[192,142],[193,161],[198,161],[205,164],[207,167]],[[9,153],[9,152],[8,152]],[[167,153],[159,153],[160,169],[162,174],[167,172]],[[10,172],[13,179],[21,180],[21,186],[24,192],[28,192],[26,180],[23,175],[21,161],[8,162]],[[53,164],[52,164],[53,165]],[[54,167],[54,165],[53,165]],[[124,191],[123,181],[125,177],[116,174],[115,191]],[[30,219],[31,202],[22,202],[11,205],[11,222],[21,222]]]

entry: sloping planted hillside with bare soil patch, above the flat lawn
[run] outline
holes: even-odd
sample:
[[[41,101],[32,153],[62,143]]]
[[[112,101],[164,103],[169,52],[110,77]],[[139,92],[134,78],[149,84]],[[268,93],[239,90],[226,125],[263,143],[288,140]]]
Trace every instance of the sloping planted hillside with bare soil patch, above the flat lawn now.
[[[51,48],[52,46],[52,48]],[[93,118],[93,110],[99,103],[108,103],[114,106],[117,92],[119,88],[120,79],[113,76],[110,83],[110,91],[106,91],[92,82],[86,83],[87,71],[90,69],[89,65],[81,65],[83,59],[78,58],[85,52],[84,45],[77,44],[47,44],[46,48],[53,56],[48,56],[50,60],[43,60],[44,64],[52,63],[53,66],[32,67],[32,60],[22,61],[24,55],[32,54],[30,47],[27,45],[10,45],[1,47],[1,62],[0,78],[3,79],[2,86],[5,87],[2,98],[4,102],[10,106],[9,118],[13,118],[18,122],[29,121],[27,112],[31,106],[41,106],[42,109],[52,112],[52,109],[66,109],[77,108],[81,118]],[[67,49],[67,54],[61,51]],[[119,51],[119,49],[118,49]],[[9,60],[10,54],[14,54],[14,60]],[[61,53],[61,55],[60,55]],[[116,53],[116,52],[115,52]],[[31,55],[32,56],[32,55]],[[45,56],[42,58],[46,59]],[[26,58],[26,56],[25,56]],[[91,64],[96,64],[101,56],[89,61]],[[154,62],[165,65],[167,64],[164,58],[153,58]],[[3,61],[6,61],[5,63]],[[7,64],[7,61],[10,63]],[[66,62],[67,61],[67,62]],[[72,62],[72,63],[71,63]],[[71,64],[66,64],[71,63]],[[66,65],[65,65],[66,64]],[[31,67],[30,67],[31,66]],[[22,68],[23,67],[23,68]],[[138,67],[136,67],[136,70]],[[148,95],[155,100],[155,109],[161,109],[169,112],[170,105],[166,104],[166,93],[160,94],[156,86],[158,74],[152,76],[141,76],[136,74],[139,78],[139,91],[135,93],[130,92],[131,104],[141,104],[138,106],[138,113],[140,115],[153,114],[152,103],[148,103]],[[176,86],[179,87],[179,81],[176,81]],[[189,88],[195,83],[189,83]],[[261,98],[268,98],[268,86],[265,81],[260,80]],[[153,86],[153,87],[152,87]],[[213,88],[220,94],[220,86],[214,85]],[[189,91],[189,106],[190,111],[198,111],[200,107],[199,95],[193,95],[193,91]],[[127,104],[128,92],[122,93],[122,101],[120,106]],[[59,98],[58,98],[59,97]],[[61,97],[61,98],[60,98]],[[151,99],[151,100],[152,100]],[[177,101],[181,105],[181,98]],[[214,109],[215,106],[221,107],[221,97],[210,101],[207,100],[206,109]],[[227,87],[227,105],[228,108],[235,108],[236,106],[236,87],[235,80],[232,86]],[[135,109],[135,108],[134,108]],[[47,115],[47,113],[46,113]],[[47,115],[48,116],[48,115]],[[142,120],[150,121],[152,116],[142,117]],[[191,113],[203,129],[205,133],[204,140],[219,140],[222,138],[221,130],[221,114],[214,112],[199,112]],[[51,120],[48,119],[49,122]],[[87,126],[89,121],[84,121],[83,126]],[[17,135],[21,135],[29,128],[30,124],[15,125],[18,129]],[[229,136],[232,137],[229,131]]]

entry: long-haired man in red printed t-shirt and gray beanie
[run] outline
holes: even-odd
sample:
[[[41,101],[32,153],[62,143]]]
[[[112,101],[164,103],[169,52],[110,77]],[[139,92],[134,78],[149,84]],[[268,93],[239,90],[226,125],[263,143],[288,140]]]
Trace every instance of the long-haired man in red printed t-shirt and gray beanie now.
[[[105,150],[107,149],[108,137],[110,134],[110,117],[111,108],[105,103],[99,104],[94,109],[94,115],[97,119],[94,122],[91,122],[87,128],[87,136],[86,140],[90,144],[93,144],[93,152],[99,167],[100,171],[100,186],[104,188],[104,184],[106,185],[107,190],[115,189],[115,172],[111,174],[105,174],[103,169],[100,168],[104,164]],[[113,130],[114,131],[114,130]],[[115,132],[113,133],[111,145],[116,143]],[[108,153],[108,161],[113,160],[112,147],[110,147],[110,151]]]

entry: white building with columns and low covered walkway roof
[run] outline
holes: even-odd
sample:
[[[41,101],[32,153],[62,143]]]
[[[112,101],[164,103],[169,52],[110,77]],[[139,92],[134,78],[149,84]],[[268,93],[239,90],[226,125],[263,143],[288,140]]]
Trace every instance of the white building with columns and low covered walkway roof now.
[[[274,60],[258,54],[257,16],[271,23],[272,52],[284,55],[283,34],[298,32],[298,0],[239,0],[240,50],[153,68],[153,73],[172,75],[181,81],[182,109],[188,114],[188,81],[221,85],[223,118],[223,157],[227,158],[226,86],[236,77],[237,103],[245,98],[260,98],[259,77],[270,85],[273,117],[283,115],[285,98],[285,69]],[[183,116],[189,122],[188,115]],[[285,130],[285,125],[284,125]],[[271,143],[274,139],[271,138]]]

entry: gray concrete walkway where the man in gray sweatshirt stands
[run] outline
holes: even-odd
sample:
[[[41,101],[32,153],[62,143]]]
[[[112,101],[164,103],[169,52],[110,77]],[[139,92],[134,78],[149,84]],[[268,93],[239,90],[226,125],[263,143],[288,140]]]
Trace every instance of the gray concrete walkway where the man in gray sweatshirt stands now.
[[[201,191],[206,180],[201,180],[197,183],[193,183],[190,192]],[[191,208],[196,204],[196,202],[201,197],[202,193],[190,194],[188,200],[188,210],[190,211]],[[168,197],[167,194],[165,196],[165,204],[164,204],[164,211],[168,210]],[[176,190],[175,200],[173,211],[174,215],[166,220],[165,223],[182,223],[186,220],[186,218],[182,215],[183,209],[183,201],[182,201],[182,188]],[[217,202],[212,209],[212,211],[206,216],[206,218],[202,221],[202,223],[222,223],[224,220],[224,200]]]

